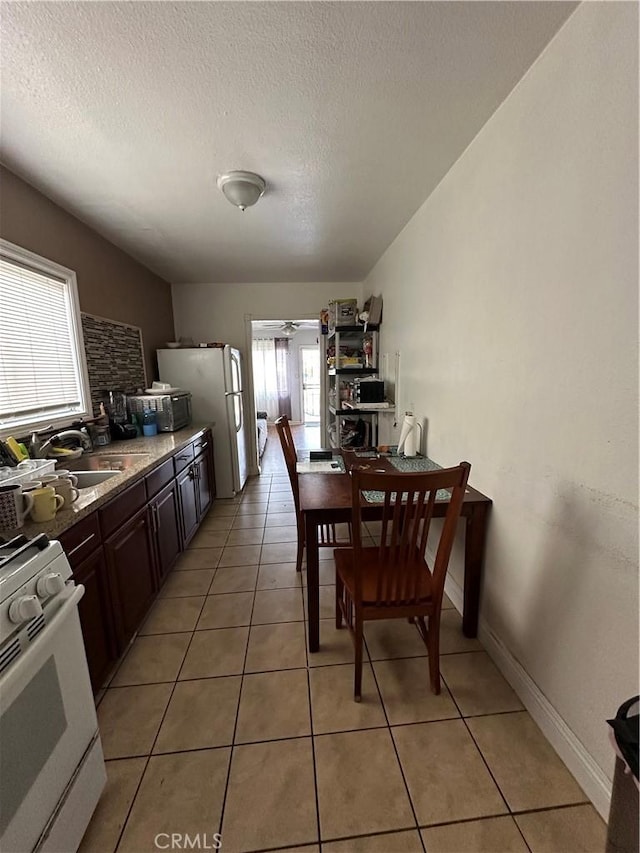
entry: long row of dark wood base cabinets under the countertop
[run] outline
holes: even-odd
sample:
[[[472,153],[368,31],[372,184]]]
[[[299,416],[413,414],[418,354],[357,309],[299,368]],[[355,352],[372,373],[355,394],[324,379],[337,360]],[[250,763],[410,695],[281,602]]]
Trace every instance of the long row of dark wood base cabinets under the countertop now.
[[[98,691],[215,497],[209,430],[59,536]]]

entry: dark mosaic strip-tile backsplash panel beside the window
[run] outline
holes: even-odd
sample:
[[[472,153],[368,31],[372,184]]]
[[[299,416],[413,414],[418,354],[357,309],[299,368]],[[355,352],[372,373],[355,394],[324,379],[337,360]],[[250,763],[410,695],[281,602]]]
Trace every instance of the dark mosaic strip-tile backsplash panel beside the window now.
[[[91,402],[97,414],[105,390],[132,394],[147,387],[142,330],[93,314],[81,316]]]

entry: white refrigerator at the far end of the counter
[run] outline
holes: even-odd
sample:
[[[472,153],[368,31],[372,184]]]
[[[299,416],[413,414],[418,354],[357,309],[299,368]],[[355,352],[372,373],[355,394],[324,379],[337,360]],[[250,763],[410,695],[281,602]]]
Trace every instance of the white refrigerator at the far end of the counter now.
[[[230,346],[160,349],[161,382],[191,392],[194,421],[211,421],[216,497],[232,498],[247,481],[242,357]]]

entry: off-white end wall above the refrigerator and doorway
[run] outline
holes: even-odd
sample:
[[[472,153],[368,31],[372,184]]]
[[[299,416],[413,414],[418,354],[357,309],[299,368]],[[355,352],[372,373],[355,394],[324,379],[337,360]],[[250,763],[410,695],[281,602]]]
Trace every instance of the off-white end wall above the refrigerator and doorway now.
[[[224,341],[246,348],[245,317],[291,320],[319,317],[331,299],[356,298],[359,282],[272,284],[174,284],[173,316],[178,337]]]

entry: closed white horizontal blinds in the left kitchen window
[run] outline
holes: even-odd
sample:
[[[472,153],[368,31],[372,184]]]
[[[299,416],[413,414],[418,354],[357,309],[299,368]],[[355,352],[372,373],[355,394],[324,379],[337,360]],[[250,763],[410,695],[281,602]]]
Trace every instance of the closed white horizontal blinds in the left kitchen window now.
[[[0,429],[85,413],[69,280],[0,257]]]

